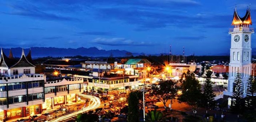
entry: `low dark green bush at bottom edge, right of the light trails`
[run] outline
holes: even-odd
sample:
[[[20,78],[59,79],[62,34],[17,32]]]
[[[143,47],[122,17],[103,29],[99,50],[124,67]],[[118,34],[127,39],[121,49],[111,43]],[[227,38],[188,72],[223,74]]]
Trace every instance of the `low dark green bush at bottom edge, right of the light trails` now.
[[[83,113],[79,114],[76,117],[77,122],[98,122],[98,115],[97,114],[88,114],[88,113]]]

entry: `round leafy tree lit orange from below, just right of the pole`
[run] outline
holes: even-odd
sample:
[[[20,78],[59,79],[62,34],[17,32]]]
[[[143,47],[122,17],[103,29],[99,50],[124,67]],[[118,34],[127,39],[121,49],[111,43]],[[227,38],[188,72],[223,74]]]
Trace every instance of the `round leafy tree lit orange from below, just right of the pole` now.
[[[177,96],[177,91],[179,87],[177,82],[168,80],[160,81],[159,84],[153,84],[150,93],[155,95],[157,98],[162,101],[166,109],[167,100],[171,100],[171,104]]]

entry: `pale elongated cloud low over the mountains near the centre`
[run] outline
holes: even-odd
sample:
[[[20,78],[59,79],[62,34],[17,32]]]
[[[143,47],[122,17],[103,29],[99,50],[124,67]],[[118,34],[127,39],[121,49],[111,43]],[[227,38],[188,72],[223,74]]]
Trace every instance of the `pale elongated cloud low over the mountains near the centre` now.
[[[135,42],[133,40],[125,39],[125,38],[96,38],[92,40],[92,43],[101,44],[101,45],[109,45],[109,46],[151,46],[154,45],[151,42],[145,43],[144,41]]]

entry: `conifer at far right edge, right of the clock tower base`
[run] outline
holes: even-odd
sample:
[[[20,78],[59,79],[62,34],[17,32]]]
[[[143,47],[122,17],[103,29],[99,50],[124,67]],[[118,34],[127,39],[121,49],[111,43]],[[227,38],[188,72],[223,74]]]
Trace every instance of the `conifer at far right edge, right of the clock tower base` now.
[[[248,110],[256,111],[256,82],[251,75],[247,80],[245,105]]]

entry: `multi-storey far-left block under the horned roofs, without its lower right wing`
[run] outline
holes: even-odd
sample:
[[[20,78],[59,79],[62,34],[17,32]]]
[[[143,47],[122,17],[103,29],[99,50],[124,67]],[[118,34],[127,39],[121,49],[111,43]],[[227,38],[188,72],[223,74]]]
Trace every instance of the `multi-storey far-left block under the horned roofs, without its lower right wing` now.
[[[42,111],[44,102],[43,74],[35,74],[31,51],[22,50],[17,61],[10,50],[9,57],[1,49],[0,59],[0,120],[10,120]]]

